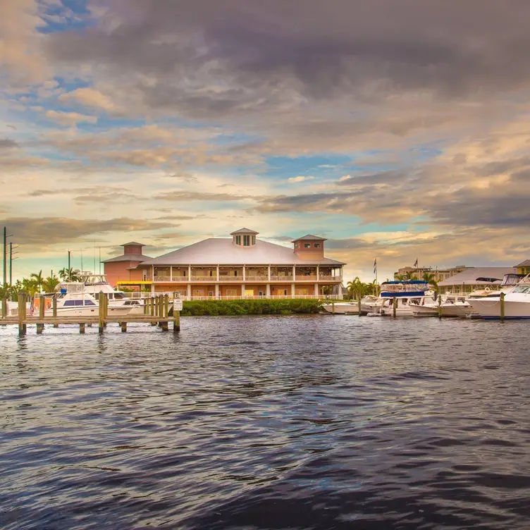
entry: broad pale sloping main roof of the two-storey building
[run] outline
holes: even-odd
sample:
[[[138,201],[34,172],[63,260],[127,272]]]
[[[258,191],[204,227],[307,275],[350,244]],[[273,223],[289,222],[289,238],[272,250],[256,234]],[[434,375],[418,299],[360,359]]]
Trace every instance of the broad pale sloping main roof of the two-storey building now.
[[[257,240],[252,247],[234,245],[231,239],[209,238],[193,245],[146,259],[147,265],[344,265],[335,259],[300,259],[292,248]]]

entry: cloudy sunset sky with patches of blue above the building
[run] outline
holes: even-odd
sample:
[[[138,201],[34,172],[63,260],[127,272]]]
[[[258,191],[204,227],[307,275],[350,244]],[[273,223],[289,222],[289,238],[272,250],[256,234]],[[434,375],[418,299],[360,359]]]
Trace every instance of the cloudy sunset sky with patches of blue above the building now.
[[[528,0],[2,0],[14,276],[243,226],[328,238],[347,279],[529,259],[529,20]]]

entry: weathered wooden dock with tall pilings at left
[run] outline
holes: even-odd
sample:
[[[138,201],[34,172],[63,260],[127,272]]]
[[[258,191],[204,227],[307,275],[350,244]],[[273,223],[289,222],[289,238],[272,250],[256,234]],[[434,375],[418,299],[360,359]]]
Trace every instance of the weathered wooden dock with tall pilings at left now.
[[[132,314],[123,316],[109,316],[109,299],[106,296],[99,296],[99,311],[97,316],[58,316],[57,300],[54,298],[52,316],[44,316],[44,297],[39,299],[39,315],[28,316],[26,311],[26,295],[18,295],[18,315],[8,316],[6,300],[2,300],[0,326],[18,325],[18,335],[23,336],[27,332],[27,326],[37,326],[37,335],[44,331],[44,326],[49,325],[58,328],[61,324],[78,325],[79,333],[85,333],[86,326],[97,325],[99,333],[104,333],[108,323],[118,323],[121,331],[127,331],[128,323],[150,323],[152,326],[159,326],[162,331],[168,331],[169,324],[173,324],[173,333],[180,333],[180,311],[173,311],[173,316],[169,316],[168,295],[160,295],[146,299],[144,304],[144,314]]]

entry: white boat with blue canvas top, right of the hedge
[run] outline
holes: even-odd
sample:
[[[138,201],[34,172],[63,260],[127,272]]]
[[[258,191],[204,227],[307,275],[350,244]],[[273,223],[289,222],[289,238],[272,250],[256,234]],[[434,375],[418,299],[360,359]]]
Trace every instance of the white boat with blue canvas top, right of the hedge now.
[[[412,302],[414,306],[426,304],[426,299],[434,301],[434,293],[427,290],[427,284],[421,280],[388,281],[381,283],[381,294],[374,304],[371,305],[370,313],[378,313],[383,316],[393,316],[394,299],[398,306],[395,308],[396,316],[413,316]]]

